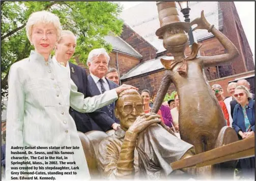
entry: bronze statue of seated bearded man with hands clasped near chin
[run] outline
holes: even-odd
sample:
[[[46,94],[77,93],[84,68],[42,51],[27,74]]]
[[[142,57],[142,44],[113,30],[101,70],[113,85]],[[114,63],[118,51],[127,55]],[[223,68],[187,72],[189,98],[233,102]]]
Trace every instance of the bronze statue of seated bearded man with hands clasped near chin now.
[[[170,163],[194,155],[194,147],[176,137],[158,115],[144,113],[136,90],[119,94],[115,112],[121,127],[99,144],[98,164],[104,178],[166,178],[173,172]],[[195,173],[195,167],[181,171]]]

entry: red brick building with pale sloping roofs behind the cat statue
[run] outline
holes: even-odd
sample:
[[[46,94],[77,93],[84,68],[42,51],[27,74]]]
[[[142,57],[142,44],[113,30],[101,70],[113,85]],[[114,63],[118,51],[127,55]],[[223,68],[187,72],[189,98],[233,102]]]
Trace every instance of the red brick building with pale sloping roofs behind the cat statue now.
[[[226,85],[239,77],[254,75],[252,53],[247,42],[234,2],[190,2],[190,19],[201,16],[204,10],[207,20],[214,24],[239,50],[240,55],[232,62],[221,66],[205,67],[204,71],[210,85]],[[178,8],[179,9],[179,8]],[[178,10],[180,12],[180,10]],[[161,56],[168,55],[155,32],[160,27],[156,2],[144,2],[123,11],[123,32],[120,37],[106,37],[106,41],[113,46],[110,53],[109,67],[119,70],[121,83],[130,84],[139,90],[149,89],[155,93],[161,83],[163,66]],[[180,15],[183,20],[183,15]],[[225,50],[219,41],[207,30],[193,32],[195,41],[203,44],[201,56],[224,54]],[[190,54],[187,47],[185,54]],[[175,90],[172,84],[168,93]],[[227,94],[226,94],[227,96]]]

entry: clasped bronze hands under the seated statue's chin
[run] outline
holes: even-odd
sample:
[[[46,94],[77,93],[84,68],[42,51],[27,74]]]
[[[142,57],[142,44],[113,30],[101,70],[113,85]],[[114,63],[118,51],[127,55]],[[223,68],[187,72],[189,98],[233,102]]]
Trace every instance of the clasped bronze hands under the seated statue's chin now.
[[[149,125],[160,123],[160,116],[154,113],[143,114],[138,116],[134,123],[129,127],[128,131],[133,133],[140,133],[145,130]]]

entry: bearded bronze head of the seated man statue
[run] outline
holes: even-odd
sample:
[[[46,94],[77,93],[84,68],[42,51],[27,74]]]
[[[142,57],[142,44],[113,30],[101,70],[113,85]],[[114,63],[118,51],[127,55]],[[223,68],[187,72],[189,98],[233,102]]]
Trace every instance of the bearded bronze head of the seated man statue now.
[[[119,94],[115,114],[120,120],[123,130],[128,130],[136,118],[142,113],[144,113],[143,99],[135,89],[127,89]]]

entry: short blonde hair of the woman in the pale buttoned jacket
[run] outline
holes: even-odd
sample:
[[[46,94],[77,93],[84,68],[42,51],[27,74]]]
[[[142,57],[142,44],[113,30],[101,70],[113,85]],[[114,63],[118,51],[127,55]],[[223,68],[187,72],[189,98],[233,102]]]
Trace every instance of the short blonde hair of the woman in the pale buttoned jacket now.
[[[32,35],[32,27],[37,23],[45,23],[45,24],[53,23],[53,26],[57,30],[57,40],[58,41],[60,40],[62,27],[61,27],[61,22],[59,17],[48,11],[38,11],[38,12],[32,13],[26,22],[26,35],[30,41],[31,41],[31,35]]]

